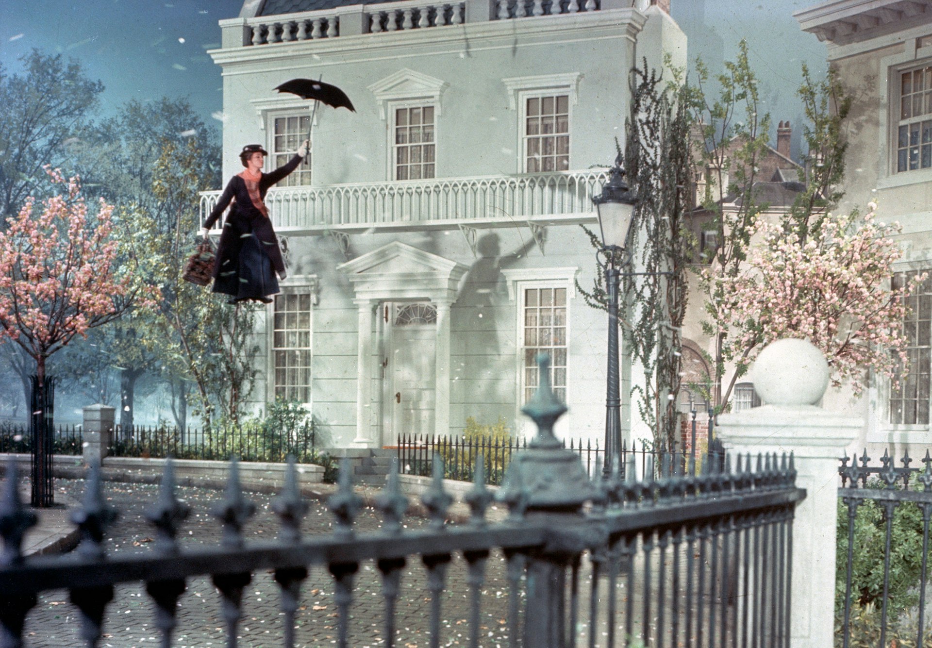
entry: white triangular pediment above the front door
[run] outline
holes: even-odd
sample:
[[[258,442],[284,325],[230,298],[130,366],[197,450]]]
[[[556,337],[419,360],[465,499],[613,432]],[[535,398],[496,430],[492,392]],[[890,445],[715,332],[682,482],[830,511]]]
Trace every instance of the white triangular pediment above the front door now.
[[[468,268],[443,256],[393,241],[340,264],[357,299],[456,301],[459,280]]]

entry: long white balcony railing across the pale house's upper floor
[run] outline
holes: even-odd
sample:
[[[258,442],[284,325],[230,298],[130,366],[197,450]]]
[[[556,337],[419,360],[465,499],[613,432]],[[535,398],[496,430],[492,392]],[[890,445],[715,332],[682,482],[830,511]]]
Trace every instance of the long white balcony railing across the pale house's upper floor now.
[[[308,232],[588,219],[607,179],[608,171],[592,170],[273,187],[266,205],[276,229]],[[220,194],[200,194],[201,222]]]

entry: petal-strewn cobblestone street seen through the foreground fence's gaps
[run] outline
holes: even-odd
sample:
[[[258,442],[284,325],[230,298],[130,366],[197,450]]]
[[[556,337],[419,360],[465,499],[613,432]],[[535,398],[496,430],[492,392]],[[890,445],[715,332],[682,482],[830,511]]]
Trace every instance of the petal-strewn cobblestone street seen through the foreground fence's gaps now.
[[[56,490],[80,500],[84,482],[60,479]],[[144,519],[146,507],[158,495],[158,486],[104,482],[104,496],[119,511],[117,522],[107,534],[109,553],[147,551],[154,531]],[[220,523],[210,515],[213,503],[223,493],[212,489],[179,488],[177,495],[191,506],[191,516],[183,526],[183,545],[215,545],[219,543]],[[256,515],[247,523],[244,533],[249,539],[271,539],[278,533],[278,520],[269,503],[273,496],[247,493],[256,503]],[[333,516],[322,502],[310,501],[303,532],[307,535],[327,533]],[[40,513],[41,515],[41,513]],[[364,509],[359,517],[359,531],[377,530],[379,514]],[[410,517],[406,524],[417,528],[425,523]],[[429,645],[430,593],[426,590],[426,575],[418,558],[403,572],[402,587],[397,602],[395,645],[403,648],[422,648]],[[506,614],[508,589],[504,577],[505,564],[500,554],[493,554],[487,563],[486,586],[482,597],[481,645],[496,648],[508,644]],[[349,624],[350,644],[364,648],[383,643],[383,599],[381,579],[372,563],[360,566],[356,579],[355,600]],[[336,604],[333,600],[333,580],[320,567],[310,570],[302,587],[301,608],[296,619],[296,644],[306,647],[336,644]],[[468,643],[469,587],[466,584],[466,563],[455,556],[447,572],[443,599],[442,645],[458,646]],[[243,593],[240,646],[254,648],[281,645],[282,618],[279,610],[279,586],[270,572],[254,573],[253,582]],[[79,616],[69,601],[68,593],[52,590],[43,593],[26,619],[24,639],[29,648],[65,648],[81,644]],[[103,646],[131,648],[156,645],[158,630],[154,624],[154,605],[145,594],[142,584],[118,586],[115,598],[107,608],[104,619]],[[220,597],[209,578],[190,579],[187,590],[179,600],[178,627],[173,645],[223,646],[226,644],[224,622],[220,614]]]

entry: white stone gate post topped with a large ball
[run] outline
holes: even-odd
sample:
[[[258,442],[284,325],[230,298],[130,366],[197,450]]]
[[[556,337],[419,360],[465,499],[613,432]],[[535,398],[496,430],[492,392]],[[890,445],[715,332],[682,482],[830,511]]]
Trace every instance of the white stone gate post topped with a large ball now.
[[[789,645],[825,648],[834,636],[839,459],[863,421],[816,406],[829,386],[829,365],[806,340],[768,345],[751,378],[767,405],[720,416],[718,434],[733,457],[793,453],[806,499],[793,521]]]

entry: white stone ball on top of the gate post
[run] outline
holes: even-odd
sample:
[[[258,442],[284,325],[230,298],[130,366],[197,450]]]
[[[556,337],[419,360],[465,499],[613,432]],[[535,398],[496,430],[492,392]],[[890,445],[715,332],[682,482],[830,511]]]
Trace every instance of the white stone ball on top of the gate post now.
[[[751,367],[754,389],[769,405],[816,405],[829,388],[829,363],[806,339],[771,342]]]

